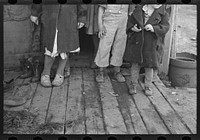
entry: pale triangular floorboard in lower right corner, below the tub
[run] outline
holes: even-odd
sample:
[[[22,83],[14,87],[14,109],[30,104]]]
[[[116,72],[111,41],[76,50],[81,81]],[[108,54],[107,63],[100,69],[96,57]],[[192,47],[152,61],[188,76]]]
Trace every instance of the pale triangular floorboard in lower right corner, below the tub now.
[[[187,128],[193,133],[196,133],[196,93],[189,93],[187,90],[174,91],[176,94],[171,94],[172,90],[165,87],[161,82],[154,82],[161,95],[167,100],[170,106],[184,121]]]

